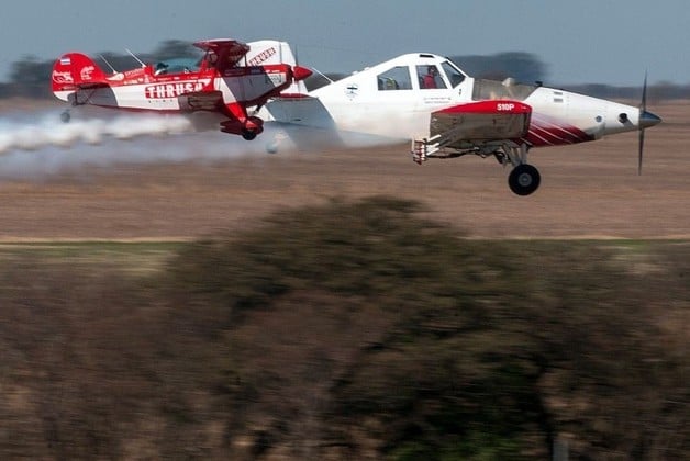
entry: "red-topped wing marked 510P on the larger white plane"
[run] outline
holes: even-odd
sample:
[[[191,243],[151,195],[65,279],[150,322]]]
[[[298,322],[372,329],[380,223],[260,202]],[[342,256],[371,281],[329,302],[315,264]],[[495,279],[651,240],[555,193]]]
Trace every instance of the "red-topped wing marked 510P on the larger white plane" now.
[[[457,104],[431,114],[430,135],[441,144],[519,139],[527,135],[532,108],[520,101],[488,100]]]

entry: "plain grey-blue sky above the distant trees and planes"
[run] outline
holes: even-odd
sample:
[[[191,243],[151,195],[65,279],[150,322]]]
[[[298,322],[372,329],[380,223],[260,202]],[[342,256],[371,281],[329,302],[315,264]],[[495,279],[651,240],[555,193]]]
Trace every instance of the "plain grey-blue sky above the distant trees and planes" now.
[[[151,52],[168,38],[281,38],[352,71],[411,52],[528,52],[547,83],[690,82],[687,0],[20,0],[0,15],[0,80],[26,55]],[[458,63],[463,67],[463,63]]]

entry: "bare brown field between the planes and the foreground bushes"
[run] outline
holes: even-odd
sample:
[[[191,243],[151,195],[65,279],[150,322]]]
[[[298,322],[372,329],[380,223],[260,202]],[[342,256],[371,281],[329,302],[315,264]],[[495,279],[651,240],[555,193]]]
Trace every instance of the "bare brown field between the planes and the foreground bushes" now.
[[[493,159],[420,167],[407,145],[92,166],[2,180],[0,239],[188,239],[286,206],[371,194],[419,200],[474,237],[690,238],[690,103],[649,109],[664,123],[646,132],[641,177],[635,133],[533,150],[542,187],[527,198],[510,192]]]

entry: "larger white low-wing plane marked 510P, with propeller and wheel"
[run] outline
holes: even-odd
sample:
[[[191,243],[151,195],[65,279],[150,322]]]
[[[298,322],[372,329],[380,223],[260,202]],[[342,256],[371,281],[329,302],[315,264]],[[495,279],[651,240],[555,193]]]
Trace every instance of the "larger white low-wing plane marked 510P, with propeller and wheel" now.
[[[527,164],[533,147],[563,146],[644,130],[661,119],[646,110],[646,77],[639,108],[512,79],[476,79],[449,59],[407,54],[313,91],[274,98],[265,120],[338,132],[411,139],[414,161],[494,157],[512,166],[510,189],[528,195],[541,177]]]

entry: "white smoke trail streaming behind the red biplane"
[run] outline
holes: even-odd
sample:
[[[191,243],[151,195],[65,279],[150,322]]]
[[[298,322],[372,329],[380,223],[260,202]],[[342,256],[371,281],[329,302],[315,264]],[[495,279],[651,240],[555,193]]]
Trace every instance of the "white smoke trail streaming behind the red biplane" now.
[[[0,117],[0,180],[42,179],[93,166],[267,155],[277,136],[267,126],[255,140],[246,142],[218,130],[194,132],[181,115],[102,112],[82,113],[69,123],[60,122],[54,111]],[[289,148],[289,143],[280,143],[281,154]]]

